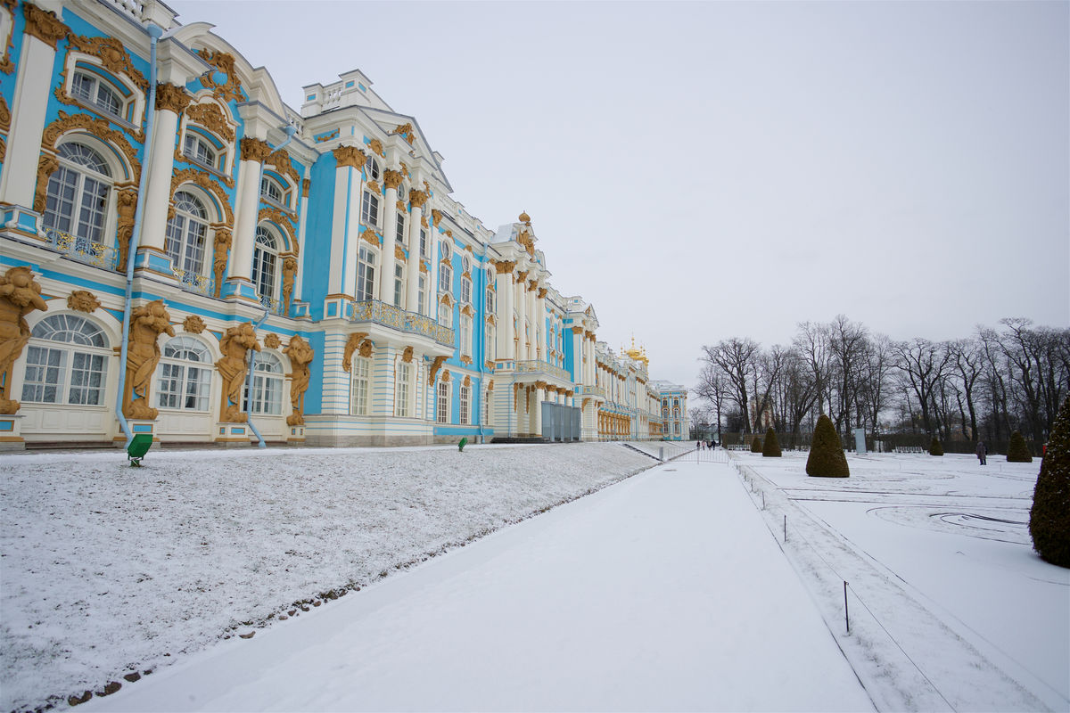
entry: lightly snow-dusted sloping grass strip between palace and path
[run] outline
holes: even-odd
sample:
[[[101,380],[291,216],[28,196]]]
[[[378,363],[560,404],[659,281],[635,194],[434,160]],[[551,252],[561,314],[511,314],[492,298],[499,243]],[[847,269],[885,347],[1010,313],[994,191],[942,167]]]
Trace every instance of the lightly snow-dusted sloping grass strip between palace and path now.
[[[65,707],[652,465],[616,444],[0,455],[0,710]]]

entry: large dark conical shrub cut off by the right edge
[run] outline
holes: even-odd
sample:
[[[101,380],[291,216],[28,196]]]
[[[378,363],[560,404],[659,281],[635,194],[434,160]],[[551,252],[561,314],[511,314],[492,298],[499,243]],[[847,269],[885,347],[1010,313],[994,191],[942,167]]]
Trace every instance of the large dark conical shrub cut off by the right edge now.
[[[1041,558],[1070,568],[1070,396],[1055,417],[1048,450],[1040,462],[1029,510],[1029,534]]]

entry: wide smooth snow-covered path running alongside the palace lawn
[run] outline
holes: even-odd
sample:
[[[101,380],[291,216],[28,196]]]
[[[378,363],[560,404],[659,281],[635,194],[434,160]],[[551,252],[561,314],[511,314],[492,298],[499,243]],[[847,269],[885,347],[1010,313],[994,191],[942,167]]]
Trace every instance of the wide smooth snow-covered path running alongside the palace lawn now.
[[[91,711],[872,710],[730,466],[669,463]]]

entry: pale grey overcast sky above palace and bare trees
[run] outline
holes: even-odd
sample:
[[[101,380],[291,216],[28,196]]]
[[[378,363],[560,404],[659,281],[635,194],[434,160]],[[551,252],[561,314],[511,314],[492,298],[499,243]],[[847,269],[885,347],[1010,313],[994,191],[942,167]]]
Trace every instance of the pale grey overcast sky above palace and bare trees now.
[[[1068,2],[167,2],[294,109],[362,69],[653,378],[838,313],[1070,326]]]

